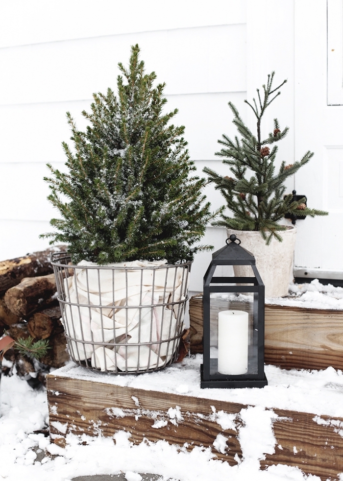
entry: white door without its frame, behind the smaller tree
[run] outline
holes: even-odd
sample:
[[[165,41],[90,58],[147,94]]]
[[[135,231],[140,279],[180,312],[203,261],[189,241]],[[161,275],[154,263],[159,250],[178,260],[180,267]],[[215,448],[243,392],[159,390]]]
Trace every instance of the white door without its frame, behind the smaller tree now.
[[[294,151],[315,152],[295,188],[329,212],[297,222],[295,272],[329,279],[343,279],[342,24],[342,0],[294,2]]]

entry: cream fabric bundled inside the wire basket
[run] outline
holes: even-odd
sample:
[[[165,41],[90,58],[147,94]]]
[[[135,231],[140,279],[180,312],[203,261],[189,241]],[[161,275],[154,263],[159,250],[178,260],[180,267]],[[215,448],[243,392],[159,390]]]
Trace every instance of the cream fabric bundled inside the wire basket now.
[[[147,366],[154,368],[162,365],[172,358],[173,342],[153,344],[151,348],[120,346],[116,351],[111,346],[104,347],[97,344],[98,342],[113,343],[114,338],[116,342],[120,342],[121,337],[126,333],[126,319],[129,338],[123,342],[159,341],[174,337],[180,332],[180,330],[176,332],[178,305],[175,305],[174,310],[166,306],[121,309],[126,302],[126,286],[128,306],[156,305],[172,300],[176,302],[184,300],[185,297],[182,296],[182,290],[184,290],[182,281],[185,282],[183,277],[186,276],[184,267],[134,269],[134,267],[155,267],[166,264],[165,260],[109,264],[116,267],[132,267],[132,270],[127,270],[126,273],[124,269],[77,268],[73,277],[65,279],[67,301],[91,306],[113,306],[113,299],[115,299],[116,306],[116,308],[98,308],[66,305],[65,320],[69,336],[92,341],[92,344],[72,341],[75,359],[79,361],[91,359],[92,366],[102,371],[116,370],[116,368],[122,371],[126,369],[135,371],[138,363],[141,370],[146,369]],[[79,265],[96,266],[86,261],[81,261]],[[154,284],[153,290],[152,284]],[[127,365],[125,358],[127,358]]]

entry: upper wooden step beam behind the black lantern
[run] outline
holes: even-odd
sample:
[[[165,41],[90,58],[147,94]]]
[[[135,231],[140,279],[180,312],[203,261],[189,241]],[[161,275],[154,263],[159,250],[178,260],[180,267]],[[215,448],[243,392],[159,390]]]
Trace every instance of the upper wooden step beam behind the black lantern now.
[[[211,322],[227,309],[216,299]],[[239,309],[236,302],[230,309]],[[242,307],[241,307],[242,309]],[[202,352],[202,297],[190,299],[191,353]],[[343,368],[343,311],[265,306],[265,362],[285,369]]]

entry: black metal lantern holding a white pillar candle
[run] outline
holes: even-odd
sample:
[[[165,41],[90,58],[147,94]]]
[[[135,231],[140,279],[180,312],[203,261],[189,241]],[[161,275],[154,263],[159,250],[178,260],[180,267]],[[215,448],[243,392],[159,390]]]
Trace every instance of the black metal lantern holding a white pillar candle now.
[[[268,384],[264,372],[265,286],[254,256],[240,243],[232,234],[212,255],[204,277],[201,387]],[[229,277],[230,265],[251,266],[252,276]]]

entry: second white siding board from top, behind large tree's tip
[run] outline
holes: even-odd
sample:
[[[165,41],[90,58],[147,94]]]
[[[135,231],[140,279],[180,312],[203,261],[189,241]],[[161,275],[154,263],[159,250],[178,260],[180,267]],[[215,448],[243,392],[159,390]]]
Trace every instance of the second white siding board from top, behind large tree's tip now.
[[[1,48],[0,105],[82,100],[115,89],[138,43],[165,94],[245,90],[245,25],[180,28]]]

